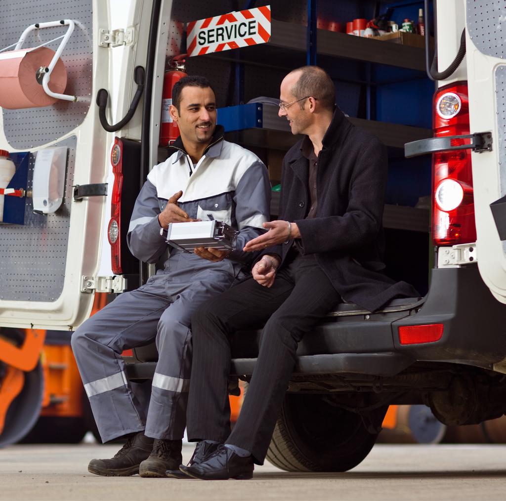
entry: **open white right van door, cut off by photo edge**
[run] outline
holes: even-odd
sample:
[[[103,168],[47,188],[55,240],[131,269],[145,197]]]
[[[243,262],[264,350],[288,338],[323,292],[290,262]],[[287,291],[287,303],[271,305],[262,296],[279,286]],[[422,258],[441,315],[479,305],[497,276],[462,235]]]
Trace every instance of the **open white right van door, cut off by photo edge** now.
[[[498,225],[490,206],[506,195],[506,4],[467,0],[466,9],[471,134],[492,140],[491,151],[472,153],[478,267],[506,303],[506,203],[492,205]]]

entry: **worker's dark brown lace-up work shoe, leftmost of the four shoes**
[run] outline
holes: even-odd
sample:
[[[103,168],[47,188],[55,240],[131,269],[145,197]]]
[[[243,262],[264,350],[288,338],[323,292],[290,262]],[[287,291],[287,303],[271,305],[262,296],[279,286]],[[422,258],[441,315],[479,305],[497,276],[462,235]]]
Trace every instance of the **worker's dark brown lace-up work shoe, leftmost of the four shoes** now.
[[[130,477],[139,473],[139,465],[152,450],[153,439],[139,432],[129,437],[111,459],[91,460],[88,471],[105,477]]]

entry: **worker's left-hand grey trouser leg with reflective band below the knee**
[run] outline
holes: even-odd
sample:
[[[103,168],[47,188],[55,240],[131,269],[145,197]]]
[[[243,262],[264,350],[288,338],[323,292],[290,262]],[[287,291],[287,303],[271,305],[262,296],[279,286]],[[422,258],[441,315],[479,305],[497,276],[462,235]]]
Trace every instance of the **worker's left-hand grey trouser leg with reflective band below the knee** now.
[[[104,442],[145,428],[148,403],[137,396],[144,385],[127,381],[121,352],[153,339],[160,316],[172,301],[164,281],[153,282],[143,290],[121,294],[72,336],[77,366]]]

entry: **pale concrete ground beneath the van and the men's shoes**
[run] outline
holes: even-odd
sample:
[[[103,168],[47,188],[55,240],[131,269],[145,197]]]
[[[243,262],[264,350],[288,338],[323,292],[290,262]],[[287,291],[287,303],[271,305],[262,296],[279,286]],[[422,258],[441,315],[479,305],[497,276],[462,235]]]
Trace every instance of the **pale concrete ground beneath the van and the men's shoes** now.
[[[117,446],[14,445],[0,450],[0,499],[506,499],[504,445],[376,445],[354,470],[286,473],[266,463],[248,481],[98,477],[94,457]],[[188,461],[193,446],[185,445]]]

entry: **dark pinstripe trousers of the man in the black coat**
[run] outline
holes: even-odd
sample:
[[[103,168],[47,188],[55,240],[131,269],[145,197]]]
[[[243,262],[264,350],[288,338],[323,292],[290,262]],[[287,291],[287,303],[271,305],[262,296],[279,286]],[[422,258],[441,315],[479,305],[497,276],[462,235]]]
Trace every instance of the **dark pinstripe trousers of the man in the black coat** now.
[[[251,278],[200,306],[192,317],[189,440],[236,445],[262,465],[296,362],[297,344],[340,301],[315,255],[291,252],[272,287]],[[230,335],[265,322],[258,361],[230,434]]]

